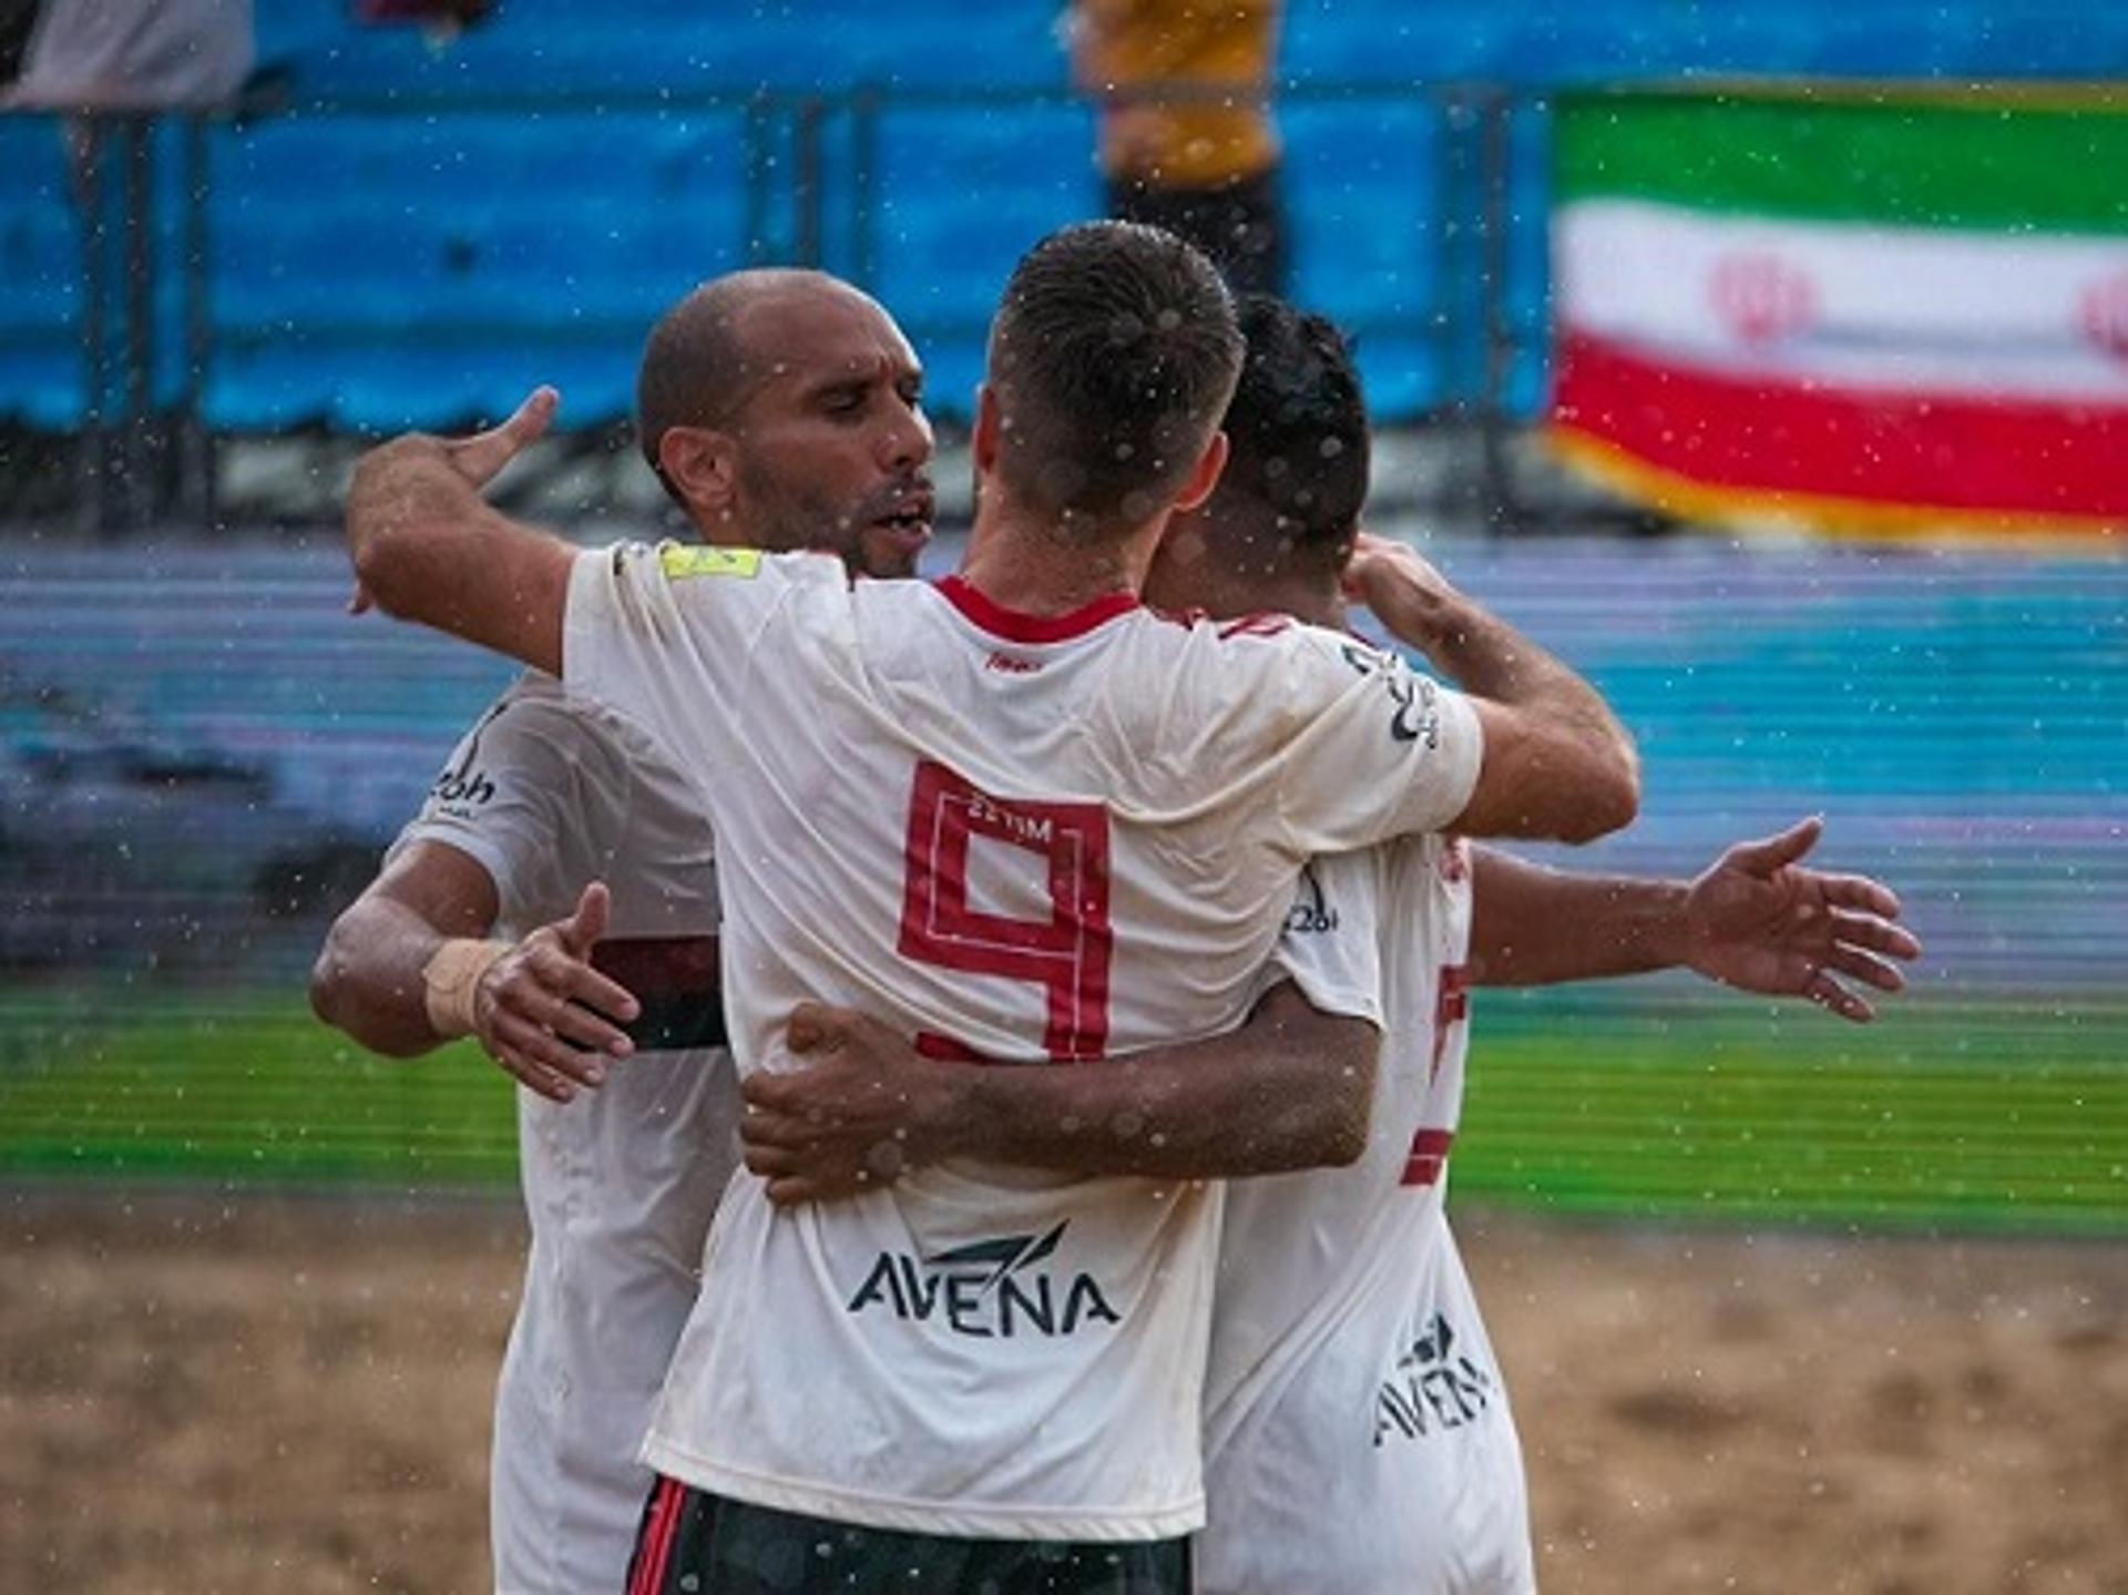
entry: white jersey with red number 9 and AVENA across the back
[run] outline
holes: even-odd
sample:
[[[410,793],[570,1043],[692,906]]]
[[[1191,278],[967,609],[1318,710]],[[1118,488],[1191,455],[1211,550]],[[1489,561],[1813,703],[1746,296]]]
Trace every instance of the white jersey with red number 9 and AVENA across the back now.
[[[807,997],[1087,1058],[1230,1029],[1300,862],[1462,811],[1479,722],[1290,622],[1062,618],[824,556],[579,558],[572,690],[700,782],[741,1073]],[[647,1457],[785,1512],[1004,1540],[1202,1520],[1219,1193],[992,1165],[794,1212],[741,1173]]]

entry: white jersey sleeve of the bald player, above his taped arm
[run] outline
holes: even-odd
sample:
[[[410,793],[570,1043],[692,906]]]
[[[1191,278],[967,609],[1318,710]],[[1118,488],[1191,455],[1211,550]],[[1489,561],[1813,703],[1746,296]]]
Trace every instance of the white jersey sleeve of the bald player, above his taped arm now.
[[[604,873],[630,801],[628,760],[560,694],[504,694],[430,784],[385,860],[417,841],[458,848],[496,884],[500,924],[566,914],[575,886]]]

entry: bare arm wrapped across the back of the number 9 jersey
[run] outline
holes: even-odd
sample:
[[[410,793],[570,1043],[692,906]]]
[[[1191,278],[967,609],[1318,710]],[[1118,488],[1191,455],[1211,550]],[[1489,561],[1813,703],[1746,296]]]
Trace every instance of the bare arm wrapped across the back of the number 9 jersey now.
[[[749,1075],[741,1122],[747,1167],[779,1203],[949,1156],[1177,1180],[1345,1167],[1366,1150],[1381,1033],[1287,982],[1230,1035],[1068,1069],[943,1063],[811,1003],[787,1039],[804,1067]]]

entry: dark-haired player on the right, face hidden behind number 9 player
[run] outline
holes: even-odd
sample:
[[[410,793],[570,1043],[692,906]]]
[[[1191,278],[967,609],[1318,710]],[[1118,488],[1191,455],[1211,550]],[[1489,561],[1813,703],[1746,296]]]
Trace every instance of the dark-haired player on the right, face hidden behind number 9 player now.
[[[1453,664],[1466,601],[1358,535],[1368,437],[1341,339],[1270,298],[1245,300],[1243,330],[1228,471],[1170,526],[1147,596],[1330,626],[1343,588]],[[1688,965],[1866,1020],[1841,977],[1896,990],[1885,958],[1917,943],[1881,886],[1800,865],[1815,835],[1732,848],[1690,884],[1562,875],[1443,835],[1317,858],[1277,963],[1317,1007],[1383,1024],[1379,1082],[1309,1056],[1268,1014],[1192,1048],[1030,1071],[941,1065],[879,1022],[807,1007],[792,1031],[813,1067],[745,1086],[747,1161],[777,1201],[972,1148],[1111,1175],[1313,1167],[1228,1190],[1196,1586],[1517,1595],[1534,1589],[1522,1454],[1443,1210],[1464,992]],[[1319,1167],[1336,1161],[1356,1167]]]

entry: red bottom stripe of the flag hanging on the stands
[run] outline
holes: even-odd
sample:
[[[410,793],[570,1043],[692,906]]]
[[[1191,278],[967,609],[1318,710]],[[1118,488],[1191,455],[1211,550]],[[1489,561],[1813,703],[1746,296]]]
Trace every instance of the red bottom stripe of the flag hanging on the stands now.
[[[2128,515],[2128,405],[1736,377],[1568,332],[1551,413],[1653,466],[1722,488]]]

